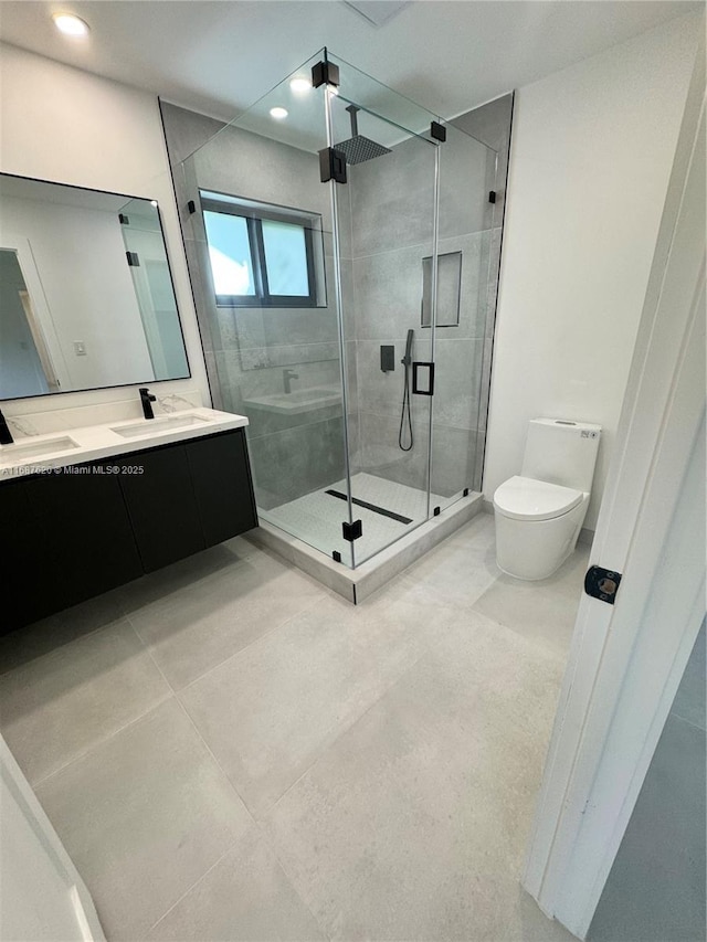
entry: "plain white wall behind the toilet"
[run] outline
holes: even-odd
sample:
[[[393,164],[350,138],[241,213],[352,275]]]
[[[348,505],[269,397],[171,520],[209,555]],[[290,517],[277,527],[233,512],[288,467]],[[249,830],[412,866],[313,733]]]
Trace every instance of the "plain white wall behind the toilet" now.
[[[594,528],[701,19],[682,17],[516,94],[484,493],[528,420],[603,426]]]

